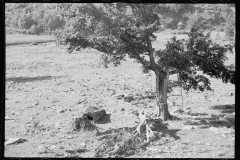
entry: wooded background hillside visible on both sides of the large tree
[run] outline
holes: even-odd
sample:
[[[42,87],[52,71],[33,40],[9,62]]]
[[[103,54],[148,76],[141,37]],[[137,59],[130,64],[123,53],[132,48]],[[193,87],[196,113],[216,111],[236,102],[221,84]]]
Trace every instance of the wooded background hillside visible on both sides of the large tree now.
[[[61,18],[57,3],[6,3],[7,33],[53,34],[67,23]],[[68,4],[64,4],[68,5]],[[195,22],[203,28],[224,31],[229,38],[235,35],[234,4],[158,4],[160,30],[190,30]]]

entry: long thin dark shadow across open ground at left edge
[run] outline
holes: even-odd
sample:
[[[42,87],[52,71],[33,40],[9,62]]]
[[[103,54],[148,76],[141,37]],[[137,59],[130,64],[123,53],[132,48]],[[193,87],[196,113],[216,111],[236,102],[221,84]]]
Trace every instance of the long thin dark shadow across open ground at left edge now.
[[[58,79],[63,78],[66,76],[37,76],[37,77],[12,77],[12,78],[6,78],[6,82],[34,82],[34,81],[42,81],[42,80],[52,80],[52,79]]]

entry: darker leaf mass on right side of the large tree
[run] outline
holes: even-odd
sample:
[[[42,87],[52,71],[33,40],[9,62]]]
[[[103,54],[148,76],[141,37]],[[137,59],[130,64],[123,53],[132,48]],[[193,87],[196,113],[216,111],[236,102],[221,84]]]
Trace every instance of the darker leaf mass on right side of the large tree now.
[[[203,74],[221,78],[224,83],[235,84],[235,70],[224,65],[226,53],[232,52],[231,45],[220,46],[210,39],[210,33],[203,34],[199,28],[192,28],[188,40],[176,40],[173,37],[166,49],[157,52],[158,63],[165,64],[171,70],[177,70],[183,89],[211,90],[210,81]]]

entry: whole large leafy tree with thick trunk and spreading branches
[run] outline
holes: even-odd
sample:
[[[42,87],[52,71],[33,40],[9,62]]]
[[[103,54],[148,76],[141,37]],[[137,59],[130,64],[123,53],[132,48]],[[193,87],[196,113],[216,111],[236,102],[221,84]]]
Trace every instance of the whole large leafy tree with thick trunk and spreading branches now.
[[[210,33],[204,35],[199,25],[193,26],[188,40],[173,37],[165,49],[154,49],[153,33],[158,30],[160,19],[153,4],[60,4],[58,7],[67,21],[60,38],[70,52],[91,47],[112,55],[116,62],[128,55],[142,64],[143,72],[155,73],[158,114],[163,120],[170,118],[167,106],[170,75],[178,74],[185,90],[211,90],[209,79],[197,71],[234,83],[234,70],[224,66],[225,53],[232,47],[214,44]]]

